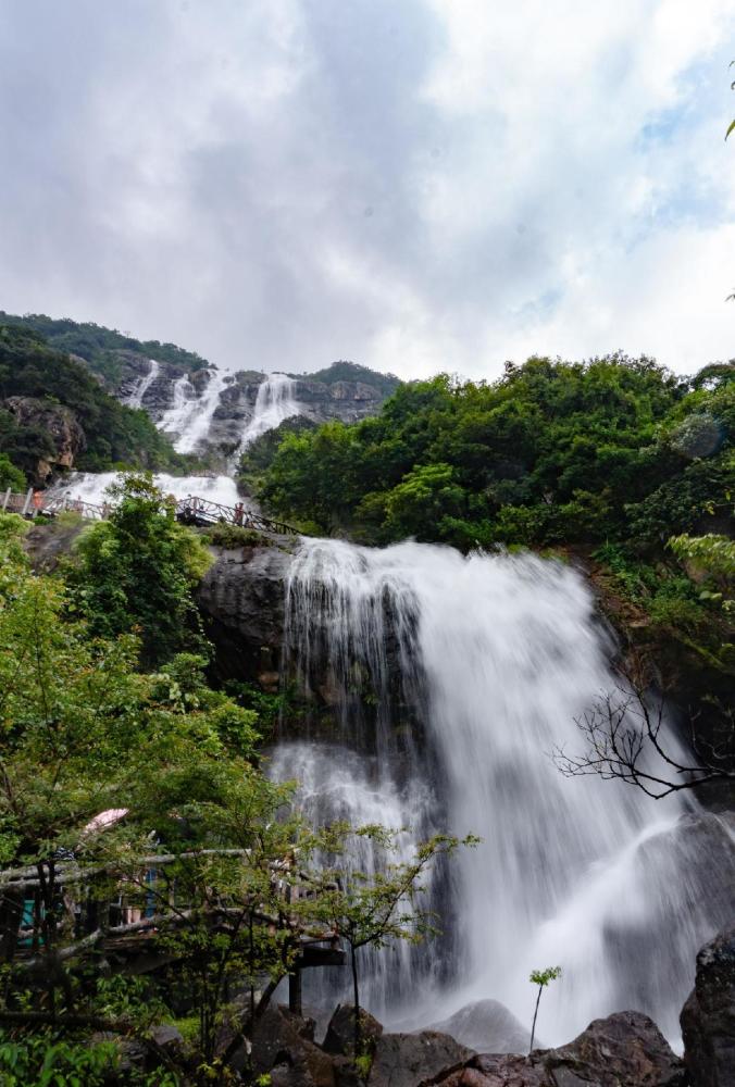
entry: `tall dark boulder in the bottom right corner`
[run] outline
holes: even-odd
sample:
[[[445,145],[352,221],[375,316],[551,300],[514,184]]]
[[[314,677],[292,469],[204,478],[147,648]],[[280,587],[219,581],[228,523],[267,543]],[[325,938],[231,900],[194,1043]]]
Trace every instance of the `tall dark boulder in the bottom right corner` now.
[[[684,1060],[693,1087],[735,1084],[735,925],[697,955],[697,979],[682,1009]]]

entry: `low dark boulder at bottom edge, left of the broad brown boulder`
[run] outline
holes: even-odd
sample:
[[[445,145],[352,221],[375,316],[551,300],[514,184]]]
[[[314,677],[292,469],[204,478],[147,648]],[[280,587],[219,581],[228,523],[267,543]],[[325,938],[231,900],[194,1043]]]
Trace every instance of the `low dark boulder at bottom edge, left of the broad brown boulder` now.
[[[384,1034],[375,1046],[368,1084],[369,1087],[416,1087],[441,1069],[460,1065],[471,1057],[471,1049],[439,1030]]]

